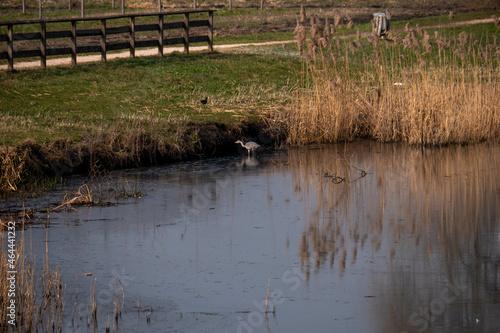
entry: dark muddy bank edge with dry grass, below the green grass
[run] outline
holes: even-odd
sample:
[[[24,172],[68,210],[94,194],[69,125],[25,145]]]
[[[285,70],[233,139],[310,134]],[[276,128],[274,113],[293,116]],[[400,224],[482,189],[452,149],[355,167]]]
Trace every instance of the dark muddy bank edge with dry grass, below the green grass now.
[[[0,194],[32,189],[47,178],[237,154],[236,140],[271,145],[280,138],[283,135],[271,132],[264,122],[243,122],[188,123],[165,133],[94,133],[78,142],[58,139],[40,144],[27,139],[17,147],[0,147]]]

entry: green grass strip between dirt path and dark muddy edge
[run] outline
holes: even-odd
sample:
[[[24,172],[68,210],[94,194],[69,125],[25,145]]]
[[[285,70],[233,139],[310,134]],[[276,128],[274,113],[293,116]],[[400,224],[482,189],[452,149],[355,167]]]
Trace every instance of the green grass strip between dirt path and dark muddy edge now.
[[[299,68],[297,59],[272,54],[176,53],[2,72],[0,145],[78,141],[120,121],[153,131],[179,121],[256,120],[286,99]]]

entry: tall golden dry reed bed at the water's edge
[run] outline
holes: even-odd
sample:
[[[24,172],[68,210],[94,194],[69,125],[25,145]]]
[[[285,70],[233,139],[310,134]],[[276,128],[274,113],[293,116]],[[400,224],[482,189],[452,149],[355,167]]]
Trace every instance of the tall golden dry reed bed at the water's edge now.
[[[497,35],[431,36],[407,25],[388,41],[361,38],[359,31],[355,39],[332,39],[340,22],[339,13],[323,21],[302,11],[297,19],[304,75],[287,120],[290,143],[500,138]]]

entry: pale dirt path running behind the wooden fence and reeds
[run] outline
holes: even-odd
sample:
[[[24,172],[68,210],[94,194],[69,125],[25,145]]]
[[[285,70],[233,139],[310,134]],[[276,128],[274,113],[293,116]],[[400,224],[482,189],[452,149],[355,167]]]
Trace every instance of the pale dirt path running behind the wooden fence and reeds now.
[[[463,21],[463,22],[456,22],[456,23],[448,23],[448,24],[440,24],[440,25],[433,25],[433,26],[425,26],[425,29],[437,29],[437,28],[451,28],[451,27],[460,27],[460,26],[466,26],[466,25],[474,25],[474,24],[482,24],[482,23],[490,23],[493,22],[493,19],[482,19],[482,20],[471,20],[471,21]],[[398,31],[398,30],[395,30]],[[365,33],[363,35],[368,35],[368,33]],[[347,36],[344,36],[347,37]],[[237,48],[237,47],[245,47],[245,46],[262,46],[262,45],[276,45],[276,44],[287,44],[287,43],[294,43],[294,40],[286,40],[286,41],[274,41],[274,42],[256,42],[256,43],[240,43],[240,44],[226,44],[226,45],[215,45],[214,49],[215,50],[224,50],[224,49],[231,49],[231,48]],[[189,51],[193,52],[199,52],[199,51],[204,51],[206,50],[206,46],[192,46],[189,48]],[[168,54],[168,53],[173,53],[173,52],[183,52],[184,47],[168,47],[164,48],[163,53]],[[148,49],[143,49],[143,50],[136,50],[136,56],[141,57],[141,56],[154,56],[158,54],[158,49],[157,48],[148,48]],[[124,51],[124,52],[119,52],[119,53],[111,53],[107,55],[108,60],[112,59],[117,59],[117,58],[128,58],[130,56],[129,51]],[[77,63],[78,64],[83,64],[83,63],[89,63],[89,62],[99,62],[101,61],[101,55],[100,54],[95,54],[95,55],[86,55],[86,56],[78,56],[77,58]],[[47,66],[53,67],[53,66],[70,66],[71,65],[71,58],[66,57],[66,58],[56,58],[56,59],[48,59],[47,60]],[[37,68],[40,67],[40,61],[25,61],[25,62],[14,62],[14,68],[16,70],[22,70],[22,69],[30,69],[30,68]],[[0,65],[0,70],[7,70],[7,65]]]

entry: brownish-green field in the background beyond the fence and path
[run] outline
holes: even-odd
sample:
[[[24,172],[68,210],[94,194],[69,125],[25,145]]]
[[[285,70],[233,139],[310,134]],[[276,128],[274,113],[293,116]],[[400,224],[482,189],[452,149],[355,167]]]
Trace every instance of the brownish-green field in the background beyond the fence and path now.
[[[80,0],[71,0],[72,10],[68,10],[69,0],[44,0],[45,18],[80,17]],[[22,13],[22,0],[6,0],[0,4],[0,21],[38,19],[38,1],[26,0],[26,13]],[[85,16],[121,13],[121,0],[85,0]],[[126,13],[158,11],[157,0],[126,0]],[[259,9],[260,0],[233,0],[233,10],[229,10],[229,0],[205,1],[197,0],[198,8],[217,8],[215,14],[215,43],[234,43],[248,41],[286,40],[292,38],[296,18],[300,12],[302,1],[264,1],[264,10]],[[181,10],[194,7],[194,0],[166,1],[162,0],[163,10]],[[307,1],[310,14],[320,17],[332,17],[335,9],[339,9],[344,23],[350,16],[356,25],[368,24],[373,13],[390,9],[395,21],[408,21],[415,18],[438,16],[439,23],[448,23],[447,15],[451,10],[456,15],[454,20],[470,20],[473,18],[490,18],[491,12],[500,11],[495,0],[446,0],[446,1]],[[488,12],[488,13],[485,13]],[[469,13],[469,14],[465,14]],[[482,14],[481,14],[482,13]],[[431,19],[434,24],[438,20]],[[422,22],[420,23],[423,24]],[[23,28],[29,29],[29,27]],[[340,30],[340,33],[343,31]],[[346,33],[348,31],[345,31]]]

